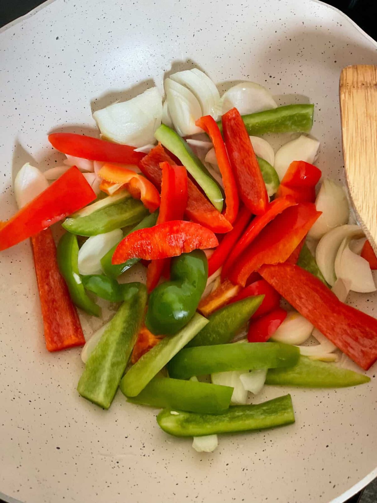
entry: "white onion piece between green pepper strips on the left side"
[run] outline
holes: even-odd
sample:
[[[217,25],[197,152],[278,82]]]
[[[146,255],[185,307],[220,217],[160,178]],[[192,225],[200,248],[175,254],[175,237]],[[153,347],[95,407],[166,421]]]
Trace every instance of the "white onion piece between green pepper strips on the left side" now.
[[[122,238],[121,229],[90,236],[78,250],[78,272],[82,275],[102,274],[102,257]]]

